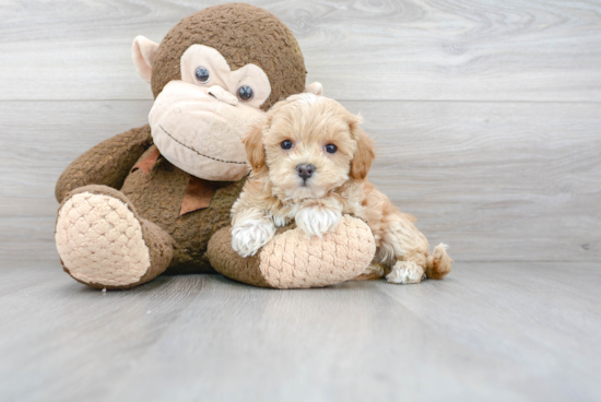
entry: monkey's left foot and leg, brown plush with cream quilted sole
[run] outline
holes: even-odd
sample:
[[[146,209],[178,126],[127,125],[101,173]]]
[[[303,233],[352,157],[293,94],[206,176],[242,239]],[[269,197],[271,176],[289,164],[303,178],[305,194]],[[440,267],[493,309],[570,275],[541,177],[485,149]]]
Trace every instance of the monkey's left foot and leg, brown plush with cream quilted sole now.
[[[64,271],[92,287],[152,281],[173,257],[172,237],[106,186],[71,191],[59,206],[55,237]]]

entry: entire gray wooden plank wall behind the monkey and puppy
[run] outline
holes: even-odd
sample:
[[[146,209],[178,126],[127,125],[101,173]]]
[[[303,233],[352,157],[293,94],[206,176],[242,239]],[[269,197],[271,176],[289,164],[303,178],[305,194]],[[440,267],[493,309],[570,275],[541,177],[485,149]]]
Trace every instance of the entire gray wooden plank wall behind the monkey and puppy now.
[[[0,258],[56,259],[54,185],[146,121],[131,64],[210,1],[0,4]],[[365,119],[370,175],[458,261],[599,261],[600,1],[251,1]]]

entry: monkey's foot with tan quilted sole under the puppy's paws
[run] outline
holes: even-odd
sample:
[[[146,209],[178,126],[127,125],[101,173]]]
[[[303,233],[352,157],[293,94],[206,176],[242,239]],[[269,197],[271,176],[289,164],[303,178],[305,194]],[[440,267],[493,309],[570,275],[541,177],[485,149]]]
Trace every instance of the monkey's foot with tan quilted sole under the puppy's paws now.
[[[232,249],[231,228],[217,232],[209,244],[213,268],[234,280],[278,288],[322,287],[363,273],[376,252],[369,226],[344,216],[333,233],[307,237],[299,228],[276,235],[261,252],[241,258]]]

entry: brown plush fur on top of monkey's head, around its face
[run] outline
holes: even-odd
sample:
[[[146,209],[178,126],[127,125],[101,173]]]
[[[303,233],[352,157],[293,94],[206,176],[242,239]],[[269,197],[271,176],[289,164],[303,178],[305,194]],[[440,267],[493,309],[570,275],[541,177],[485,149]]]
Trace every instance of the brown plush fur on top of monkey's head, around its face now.
[[[187,16],[167,33],[152,66],[154,97],[169,81],[181,79],[179,59],[195,44],[217,49],[232,70],[248,63],[259,66],[271,83],[263,110],[305,88],[303,54],[286,25],[266,10],[229,3]]]

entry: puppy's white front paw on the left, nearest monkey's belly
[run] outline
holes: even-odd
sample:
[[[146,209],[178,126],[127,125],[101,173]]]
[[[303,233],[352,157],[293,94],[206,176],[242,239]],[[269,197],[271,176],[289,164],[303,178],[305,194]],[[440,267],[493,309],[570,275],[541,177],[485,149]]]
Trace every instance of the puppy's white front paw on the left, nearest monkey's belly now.
[[[255,256],[274,235],[272,222],[249,220],[232,228],[232,248],[241,257]]]

